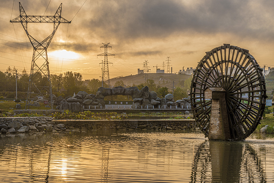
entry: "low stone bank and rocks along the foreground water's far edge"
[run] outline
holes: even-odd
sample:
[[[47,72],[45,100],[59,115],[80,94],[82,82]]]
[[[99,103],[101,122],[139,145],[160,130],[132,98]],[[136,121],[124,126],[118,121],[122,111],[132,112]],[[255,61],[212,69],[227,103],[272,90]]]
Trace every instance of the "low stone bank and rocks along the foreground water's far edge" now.
[[[37,132],[85,132],[96,130],[186,130],[194,120],[53,120],[51,117],[0,118],[0,134]]]

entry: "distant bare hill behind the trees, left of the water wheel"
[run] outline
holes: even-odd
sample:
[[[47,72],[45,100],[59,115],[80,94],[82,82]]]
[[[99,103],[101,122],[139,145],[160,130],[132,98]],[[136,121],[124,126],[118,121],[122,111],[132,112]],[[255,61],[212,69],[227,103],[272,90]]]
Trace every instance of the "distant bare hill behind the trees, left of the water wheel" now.
[[[147,78],[153,79],[156,85],[160,85],[162,87],[172,88],[172,82],[174,81],[174,86],[184,86],[184,80],[191,77],[191,75],[187,74],[170,74],[170,73],[148,73]],[[124,76],[119,78],[110,79],[111,85],[114,85],[116,81],[122,80],[125,85],[128,87],[135,85],[139,85],[145,82],[145,74],[136,74],[132,76]]]

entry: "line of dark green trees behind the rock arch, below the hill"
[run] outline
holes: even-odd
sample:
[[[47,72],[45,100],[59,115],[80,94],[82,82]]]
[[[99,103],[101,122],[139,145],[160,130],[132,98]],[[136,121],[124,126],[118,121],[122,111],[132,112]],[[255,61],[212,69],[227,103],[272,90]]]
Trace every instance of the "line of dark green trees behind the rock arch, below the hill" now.
[[[20,77],[19,77],[20,76]],[[0,96],[4,96],[6,98],[15,98],[16,91],[16,68],[10,68],[5,72],[0,71]],[[37,77],[33,80],[33,83],[36,86],[44,86],[47,85],[48,80],[47,77],[42,76],[41,73],[37,75]],[[184,81],[184,87],[175,87],[174,88],[174,100],[181,99],[182,97],[188,97],[187,89],[190,88],[191,78],[186,79]],[[18,98],[26,98],[26,93],[28,91],[29,86],[29,74],[26,69],[24,69],[21,73],[17,73],[17,91]],[[66,97],[69,95],[73,95],[78,91],[86,91],[87,93],[96,94],[99,87],[102,86],[102,82],[99,79],[86,79],[83,80],[83,76],[79,72],[67,71],[61,74],[51,74],[51,87],[52,93],[55,96]],[[103,83],[104,87],[108,87],[106,83]],[[115,86],[125,86],[125,83],[120,80],[116,81]],[[144,86],[148,86],[150,91],[155,91],[158,97],[162,98],[168,93],[172,93],[172,89],[170,90],[167,87],[161,87],[156,85],[153,79],[147,79],[146,82],[141,83],[139,85],[133,84],[133,86],[137,86],[139,90],[141,90]],[[129,96],[107,96],[106,100],[131,100]]]

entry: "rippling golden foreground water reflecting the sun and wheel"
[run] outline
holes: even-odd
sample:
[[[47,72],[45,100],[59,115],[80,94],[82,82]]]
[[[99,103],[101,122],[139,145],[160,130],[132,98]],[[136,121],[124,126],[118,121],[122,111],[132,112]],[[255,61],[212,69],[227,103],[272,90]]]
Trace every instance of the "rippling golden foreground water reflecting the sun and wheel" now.
[[[101,131],[0,136],[0,182],[274,182],[273,136]]]

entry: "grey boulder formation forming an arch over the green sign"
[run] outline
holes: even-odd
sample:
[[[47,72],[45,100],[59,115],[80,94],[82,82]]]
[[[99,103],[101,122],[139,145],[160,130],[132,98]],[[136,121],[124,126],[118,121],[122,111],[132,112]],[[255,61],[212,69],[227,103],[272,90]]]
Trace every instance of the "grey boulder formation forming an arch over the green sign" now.
[[[140,108],[188,108],[191,109],[190,99],[174,101],[172,94],[167,94],[164,98],[159,98],[155,91],[149,92],[147,86],[141,90],[137,86],[124,88],[116,86],[114,88],[100,87],[95,94],[88,94],[85,91],[79,91],[76,95],[57,97],[55,104],[59,104],[56,109],[68,110],[72,112],[81,112],[83,109],[100,109],[105,108],[104,98],[111,95],[125,95],[132,96],[134,109]]]

